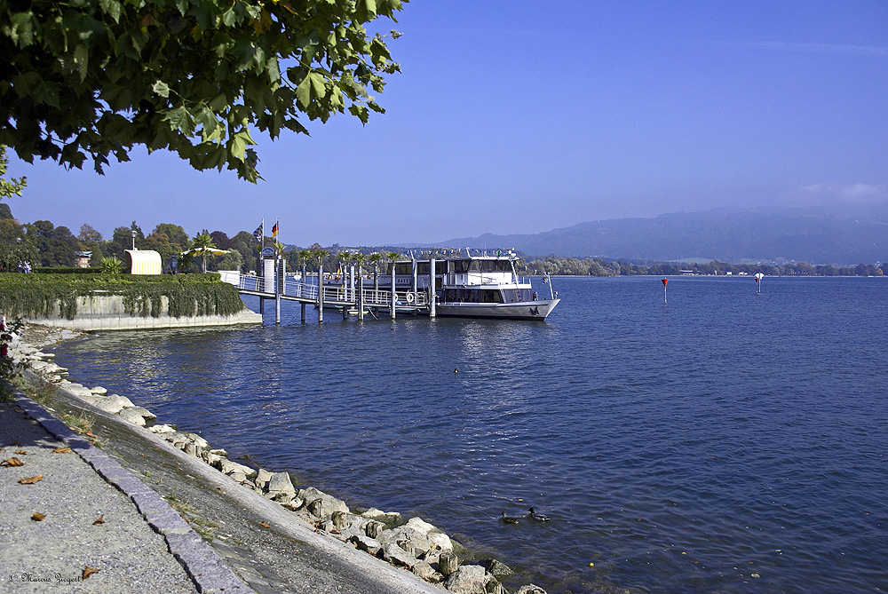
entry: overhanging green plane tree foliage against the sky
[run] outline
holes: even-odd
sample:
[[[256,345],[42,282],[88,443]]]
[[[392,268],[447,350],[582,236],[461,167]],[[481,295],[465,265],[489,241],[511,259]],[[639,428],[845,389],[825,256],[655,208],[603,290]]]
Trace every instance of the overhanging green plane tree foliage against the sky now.
[[[384,111],[371,92],[400,68],[366,27],[402,2],[0,2],[0,145],[99,172],[144,145],[255,182],[254,132]]]

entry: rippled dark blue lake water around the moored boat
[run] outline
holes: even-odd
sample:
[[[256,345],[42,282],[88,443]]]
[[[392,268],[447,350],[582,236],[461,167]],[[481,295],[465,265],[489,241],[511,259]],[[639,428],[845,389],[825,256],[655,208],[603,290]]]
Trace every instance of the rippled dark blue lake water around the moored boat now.
[[[277,328],[56,352],[233,459],[422,517],[512,584],[888,588],[888,279],[676,277],[669,305],[653,277],[555,289],[545,322],[303,325],[285,303]],[[497,521],[531,505],[551,522]]]

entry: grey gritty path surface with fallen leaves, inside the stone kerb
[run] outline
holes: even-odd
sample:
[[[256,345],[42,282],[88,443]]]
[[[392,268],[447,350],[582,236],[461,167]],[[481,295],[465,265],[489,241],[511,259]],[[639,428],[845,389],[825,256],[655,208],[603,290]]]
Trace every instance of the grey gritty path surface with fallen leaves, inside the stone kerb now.
[[[74,451],[54,452],[64,447],[19,404],[0,403],[0,462],[22,463],[0,466],[0,591],[197,591],[131,499]],[[83,580],[87,567],[98,571]]]

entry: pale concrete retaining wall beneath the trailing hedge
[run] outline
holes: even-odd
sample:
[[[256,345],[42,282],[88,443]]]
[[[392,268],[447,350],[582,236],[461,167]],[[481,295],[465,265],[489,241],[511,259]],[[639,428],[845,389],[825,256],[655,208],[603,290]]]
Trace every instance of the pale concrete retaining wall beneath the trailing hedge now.
[[[61,326],[78,330],[131,330],[150,328],[189,328],[196,326],[232,326],[234,324],[261,324],[262,316],[244,309],[234,315],[202,315],[174,317],[169,313],[169,300],[163,297],[160,316],[142,317],[130,315],[123,307],[120,295],[77,297],[77,314],[74,320],[63,318],[59,305],[52,316],[29,318],[28,321],[44,326]]]

